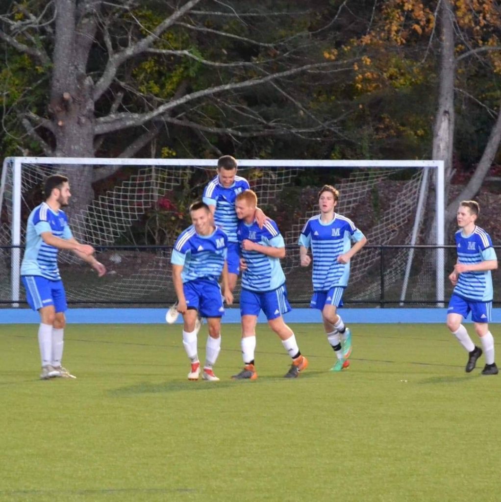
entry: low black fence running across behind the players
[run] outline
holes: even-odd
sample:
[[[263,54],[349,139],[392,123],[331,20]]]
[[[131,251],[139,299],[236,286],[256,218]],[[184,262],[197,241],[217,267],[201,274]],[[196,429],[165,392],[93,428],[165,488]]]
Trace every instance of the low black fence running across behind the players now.
[[[299,248],[287,245],[282,261],[289,301],[307,306],[312,294],[311,267],[299,263]],[[501,246],[494,246],[499,256]],[[98,259],[108,273],[97,278],[93,271],[69,252],[60,253],[60,270],[68,303],[78,307],[155,307],[175,300],[170,258],[172,246],[96,246]],[[24,288],[12,275],[19,270],[24,247],[0,246],[0,308],[26,306]],[[13,260],[16,265],[13,267]],[[448,275],[456,262],[454,245],[366,245],[351,261],[346,306],[436,307],[447,304],[452,293]],[[443,274],[437,296],[437,267]],[[501,305],[501,272],[492,272],[494,306]],[[14,285],[13,285],[14,283]],[[405,294],[404,294],[405,293]],[[497,294],[499,293],[499,294]],[[440,295],[441,296],[441,295]],[[238,303],[239,286],[235,291]]]

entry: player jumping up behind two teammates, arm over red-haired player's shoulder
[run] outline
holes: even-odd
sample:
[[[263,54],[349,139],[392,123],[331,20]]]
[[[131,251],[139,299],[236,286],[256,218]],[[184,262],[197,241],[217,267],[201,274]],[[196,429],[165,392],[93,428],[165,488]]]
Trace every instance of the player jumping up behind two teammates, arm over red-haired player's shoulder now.
[[[216,226],[222,228],[228,235],[228,284],[231,291],[235,289],[240,273],[240,247],[236,238],[238,218],[235,213],[236,196],[249,188],[245,178],[237,176],[237,163],[231,155],[223,155],[217,161],[217,176],[212,179],[203,192],[205,202],[214,215]],[[256,219],[263,227],[266,216],[256,208]]]

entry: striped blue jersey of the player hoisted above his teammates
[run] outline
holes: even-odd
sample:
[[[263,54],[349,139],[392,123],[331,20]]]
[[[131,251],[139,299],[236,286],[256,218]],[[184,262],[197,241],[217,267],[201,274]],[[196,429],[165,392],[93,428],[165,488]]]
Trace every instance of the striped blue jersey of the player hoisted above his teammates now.
[[[219,183],[219,176],[216,176],[203,191],[202,200],[208,206],[216,207],[214,222],[227,233],[229,242],[238,242],[236,238],[238,218],[235,212],[235,198],[239,193],[248,189],[248,181],[241,176],[235,176],[235,181],[228,188],[223,187]]]

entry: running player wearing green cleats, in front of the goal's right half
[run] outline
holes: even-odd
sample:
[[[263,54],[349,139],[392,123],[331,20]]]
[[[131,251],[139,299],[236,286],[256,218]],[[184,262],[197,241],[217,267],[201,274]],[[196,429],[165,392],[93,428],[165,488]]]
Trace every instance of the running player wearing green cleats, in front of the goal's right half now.
[[[318,192],[320,214],[306,222],[299,236],[302,267],[308,267],[312,261],[308,255],[311,246],[313,296],[310,307],[322,311],[327,340],[337,358],[331,371],[340,371],[349,365],[351,333],[337,309],[342,306],[348,285],[350,260],[367,242],[349,218],[335,212],[338,200],[339,192],[331,185],[324,185]]]

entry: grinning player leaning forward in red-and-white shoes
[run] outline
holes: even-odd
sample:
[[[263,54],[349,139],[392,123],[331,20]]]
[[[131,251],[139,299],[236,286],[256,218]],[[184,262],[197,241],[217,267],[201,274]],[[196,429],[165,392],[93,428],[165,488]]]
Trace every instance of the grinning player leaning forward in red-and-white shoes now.
[[[190,206],[192,225],[181,232],[172,252],[172,282],[178,299],[177,311],[183,315],[183,345],[191,362],[188,380],[198,380],[200,361],[197,353],[197,313],[207,318],[209,336],[205,348],[202,378],[210,382],[219,379],[213,366],[221,350],[221,317],[224,307],[218,280],[222,274],[224,299],[233,303],[228,288],[226,253],[227,235],[214,225],[205,202]]]

